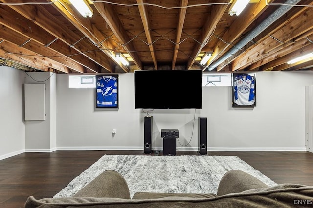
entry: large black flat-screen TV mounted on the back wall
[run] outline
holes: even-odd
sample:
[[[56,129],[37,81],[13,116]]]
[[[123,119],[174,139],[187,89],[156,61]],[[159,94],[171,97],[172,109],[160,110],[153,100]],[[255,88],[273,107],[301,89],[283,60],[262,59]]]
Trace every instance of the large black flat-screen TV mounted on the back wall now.
[[[134,72],[136,109],[201,109],[202,70]]]

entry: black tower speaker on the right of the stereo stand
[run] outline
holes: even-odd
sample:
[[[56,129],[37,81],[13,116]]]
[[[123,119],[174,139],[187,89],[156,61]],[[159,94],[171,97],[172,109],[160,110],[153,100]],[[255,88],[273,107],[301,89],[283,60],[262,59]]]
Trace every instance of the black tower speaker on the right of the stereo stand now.
[[[199,154],[207,154],[207,118],[198,117]]]

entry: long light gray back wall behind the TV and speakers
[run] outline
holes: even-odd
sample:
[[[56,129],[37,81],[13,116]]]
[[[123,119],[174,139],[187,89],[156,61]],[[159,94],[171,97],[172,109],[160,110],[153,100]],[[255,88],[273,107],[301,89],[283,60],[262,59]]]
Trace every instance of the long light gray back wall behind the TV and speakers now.
[[[146,113],[134,108],[134,73],[119,75],[118,110],[95,111],[94,89],[68,88],[68,75],[57,82],[58,149],[143,149]],[[253,109],[232,108],[231,87],[204,87],[201,110],[149,112],[153,148],[162,149],[161,129],[179,129],[179,142],[190,143],[177,149],[197,150],[197,118],[204,116],[209,150],[305,150],[305,86],[313,72],[257,72],[256,83]]]

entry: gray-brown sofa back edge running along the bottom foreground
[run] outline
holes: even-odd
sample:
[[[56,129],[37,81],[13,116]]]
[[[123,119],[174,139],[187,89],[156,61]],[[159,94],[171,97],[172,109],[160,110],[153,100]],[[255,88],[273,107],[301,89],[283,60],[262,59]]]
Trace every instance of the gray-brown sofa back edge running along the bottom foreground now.
[[[300,204],[301,203],[301,204]],[[211,198],[169,196],[157,199],[119,199],[67,197],[36,200],[30,196],[25,208],[225,208],[225,207],[297,207],[313,206],[313,186],[281,184],[267,189],[252,189]]]

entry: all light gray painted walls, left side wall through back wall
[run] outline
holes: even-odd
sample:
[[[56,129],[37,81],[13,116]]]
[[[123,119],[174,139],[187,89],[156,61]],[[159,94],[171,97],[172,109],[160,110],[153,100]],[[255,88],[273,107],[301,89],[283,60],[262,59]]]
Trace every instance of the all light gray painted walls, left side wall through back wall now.
[[[51,76],[31,74],[39,80]],[[119,109],[100,111],[94,110],[94,89],[70,89],[67,74],[53,75],[45,82],[45,123],[24,122],[23,84],[30,82],[24,72],[0,67],[0,159],[25,150],[143,149],[146,113],[134,108],[134,73],[119,75]],[[208,150],[305,151],[305,86],[312,83],[312,71],[257,72],[253,109],[232,108],[231,87],[204,87],[201,110],[149,112],[153,148],[162,149],[161,129],[179,129],[179,142],[188,145],[177,142],[177,149],[197,150],[197,118],[204,116]]]

